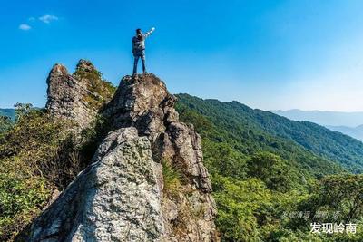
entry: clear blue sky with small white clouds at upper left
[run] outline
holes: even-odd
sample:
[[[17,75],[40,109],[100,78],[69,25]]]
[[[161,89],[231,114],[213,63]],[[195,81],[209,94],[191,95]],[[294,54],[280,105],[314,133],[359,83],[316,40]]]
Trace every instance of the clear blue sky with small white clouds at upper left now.
[[[0,107],[44,106],[54,63],[118,84],[140,27],[173,93],[264,110],[363,111],[363,1],[0,0]]]

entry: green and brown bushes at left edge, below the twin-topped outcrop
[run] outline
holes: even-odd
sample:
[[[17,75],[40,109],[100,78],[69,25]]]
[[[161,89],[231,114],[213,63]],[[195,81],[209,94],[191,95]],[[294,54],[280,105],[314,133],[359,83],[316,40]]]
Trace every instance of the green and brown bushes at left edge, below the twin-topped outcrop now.
[[[22,236],[52,190],[63,189],[81,169],[70,124],[29,104],[17,104],[16,116],[0,134],[0,241]]]

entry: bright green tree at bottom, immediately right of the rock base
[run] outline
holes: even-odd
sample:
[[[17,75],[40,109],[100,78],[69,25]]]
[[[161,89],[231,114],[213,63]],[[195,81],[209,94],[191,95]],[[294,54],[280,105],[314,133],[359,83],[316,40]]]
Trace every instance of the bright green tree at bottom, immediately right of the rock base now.
[[[260,179],[213,178],[223,241],[260,241],[258,218],[270,207],[271,194]]]

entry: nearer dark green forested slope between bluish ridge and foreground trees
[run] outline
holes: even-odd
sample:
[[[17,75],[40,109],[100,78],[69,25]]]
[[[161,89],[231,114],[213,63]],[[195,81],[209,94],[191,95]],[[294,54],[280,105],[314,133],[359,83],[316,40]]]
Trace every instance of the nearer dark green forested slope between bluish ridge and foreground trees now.
[[[290,173],[294,171],[293,175],[300,180],[309,181],[312,177],[344,171],[337,162],[320,157],[293,140],[264,131],[255,121],[245,119],[240,110],[229,109],[227,104],[221,104],[224,102],[203,101],[187,94],[178,95],[178,98],[177,111],[181,120],[193,123],[201,137],[208,138],[203,139],[203,145],[208,148],[204,156],[211,157],[213,162],[218,162],[214,159],[216,156],[226,157],[224,152],[231,156],[231,160],[238,157],[246,161],[256,152],[268,151],[279,155],[288,164]],[[216,153],[218,150],[221,150],[220,154]],[[220,169],[218,167],[216,164],[211,169]]]

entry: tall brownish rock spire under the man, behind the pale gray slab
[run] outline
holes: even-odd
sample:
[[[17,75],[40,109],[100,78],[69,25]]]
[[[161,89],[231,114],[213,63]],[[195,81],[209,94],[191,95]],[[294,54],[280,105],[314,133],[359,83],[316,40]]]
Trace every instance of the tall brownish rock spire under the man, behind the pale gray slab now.
[[[201,137],[179,121],[175,102],[175,96],[153,74],[126,76],[105,115],[117,128],[136,127],[139,135],[151,141],[153,160],[171,163],[186,179],[176,196],[163,194],[165,241],[216,241],[216,210],[211,180],[202,163]]]

